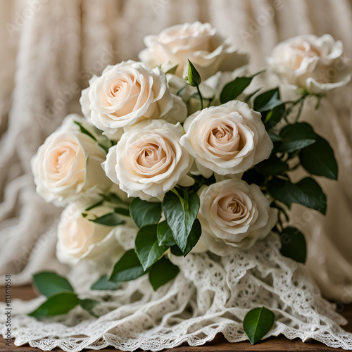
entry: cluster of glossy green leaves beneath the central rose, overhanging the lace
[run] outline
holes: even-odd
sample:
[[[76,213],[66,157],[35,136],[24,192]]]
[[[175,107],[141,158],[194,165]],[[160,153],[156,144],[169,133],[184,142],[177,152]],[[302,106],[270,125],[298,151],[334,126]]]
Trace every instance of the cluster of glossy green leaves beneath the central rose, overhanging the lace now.
[[[111,284],[118,288],[120,282],[146,273],[154,290],[174,279],[180,270],[163,255],[170,249],[176,256],[187,256],[196,245],[201,236],[201,224],[196,218],[198,210],[196,190],[172,189],[165,194],[162,203],[134,199],[129,210],[139,227],[134,249],[127,251],[115,264],[111,275],[101,277],[92,289],[111,289]]]

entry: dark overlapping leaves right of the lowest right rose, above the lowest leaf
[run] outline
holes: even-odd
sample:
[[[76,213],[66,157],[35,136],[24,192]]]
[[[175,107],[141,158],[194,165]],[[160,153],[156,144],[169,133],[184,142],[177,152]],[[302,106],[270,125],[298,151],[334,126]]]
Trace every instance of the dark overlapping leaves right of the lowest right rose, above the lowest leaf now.
[[[311,177],[296,184],[274,177],[268,182],[268,191],[272,198],[284,204],[298,203],[322,214],[327,211],[327,198],[318,182]]]

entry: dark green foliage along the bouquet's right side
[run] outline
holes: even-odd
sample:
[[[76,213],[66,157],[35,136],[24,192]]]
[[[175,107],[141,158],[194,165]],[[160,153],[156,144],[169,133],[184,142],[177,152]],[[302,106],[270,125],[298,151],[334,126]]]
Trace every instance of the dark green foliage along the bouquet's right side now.
[[[221,103],[237,99],[256,75],[237,77],[226,84],[220,94]],[[284,102],[280,98],[278,88],[255,96],[253,109],[261,114],[274,149],[270,158],[243,175],[246,182],[258,184],[270,195],[271,206],[279,211],[279,220],[274,231],[281,239],[281,253],[301,263],[306,261],[306,241],[298,229],[282,225],[284,220],[289,220],[287,210],[292,203],[298,203],[325,214],[327,199],[313,177],[304,177],[298,182],[292,182],[289,172],[303,168],[310,175],[332,180],[337,180],[338,174],[337,162],[329,143],[315,133],[307,122],[298,121],[308,96],[307,92],[303,92],[296,101]],[[321,96],[318,96],[319,101],[320,98]],[[293,113],[296,113],[296,116],[291,122]]]

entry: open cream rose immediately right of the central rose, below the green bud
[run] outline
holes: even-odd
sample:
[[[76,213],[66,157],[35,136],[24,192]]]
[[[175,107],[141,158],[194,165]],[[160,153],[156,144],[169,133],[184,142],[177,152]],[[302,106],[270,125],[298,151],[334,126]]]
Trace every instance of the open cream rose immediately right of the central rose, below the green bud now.
[[[180,144],[204,177],[240,174],[270,156],[272,142],[260,118],[242,101],[197,111],[184,122]]]

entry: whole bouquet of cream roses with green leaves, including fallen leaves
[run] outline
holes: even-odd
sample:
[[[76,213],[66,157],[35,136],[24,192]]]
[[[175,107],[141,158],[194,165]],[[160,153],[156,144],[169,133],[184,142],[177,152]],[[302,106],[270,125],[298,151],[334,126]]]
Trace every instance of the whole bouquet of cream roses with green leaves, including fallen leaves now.
[[[283,256],[304,263],[306,242],[286,225],[289,208],[325,214],[327,199],[313,177],[294,183],[290,172],[337,180],[337,163],[299,118],[305,101],[318,108],[325,92],[351,79],[341,42],[327,34],[289,39],[258,73],[208,24],[177,25],[145,44],[140,62],[92,77],[80,99],[84,117],[68,115],[32,159],[37,192],[66,206],[58,259],[103,258],[92,290],[106,291],[142,275],[158,290],[178,275],[182,256],[220,258],[269,234]],[[273,77],[296,97],[263,88]],[[34,317],[79,305],[99,315],[99,302],[78,298],[63,277],[43,272],[34,284],[48,297]],[[252,343],[274,323],[267,308],[246,313]]]

